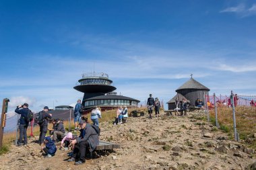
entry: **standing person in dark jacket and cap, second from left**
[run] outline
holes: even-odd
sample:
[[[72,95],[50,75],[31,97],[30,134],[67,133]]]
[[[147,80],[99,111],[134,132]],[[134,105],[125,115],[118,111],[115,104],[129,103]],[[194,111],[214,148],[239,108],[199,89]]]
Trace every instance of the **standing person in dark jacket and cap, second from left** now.
[[[44,142],[45,135],[48,130],[48,120],[52,118],[52,114],[48,113],[49,108],[48,106],[44,106],[44,110],[42,110],[38,114],[42,114],[42,123],[39,124],[40,127],[40,135],[39,135],[39,144],[42,146]]]

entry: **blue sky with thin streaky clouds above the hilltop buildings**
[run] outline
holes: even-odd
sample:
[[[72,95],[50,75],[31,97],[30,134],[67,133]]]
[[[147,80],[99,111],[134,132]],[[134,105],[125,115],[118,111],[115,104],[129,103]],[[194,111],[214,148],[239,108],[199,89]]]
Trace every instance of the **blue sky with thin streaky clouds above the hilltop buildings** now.
[[[0,99],[71,105],[82,73],[166,103],[193,78],[210,94],[256,95],[256,1],[1,1]],[[0,101],[2,104],[2,100]]]

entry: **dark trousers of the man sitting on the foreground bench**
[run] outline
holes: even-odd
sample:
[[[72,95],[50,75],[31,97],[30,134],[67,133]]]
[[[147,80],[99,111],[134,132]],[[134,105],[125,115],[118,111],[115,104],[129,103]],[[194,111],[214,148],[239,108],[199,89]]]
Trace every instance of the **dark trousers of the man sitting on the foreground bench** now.
[[[77,144],[75,144],[75,148],[73,151],[73,157],[76,160],[80,160],[80,161],[85,161],[86,159],[86,148],[89,148],[89,142],[88,141],[84,141],[84,142],[79,142]]]

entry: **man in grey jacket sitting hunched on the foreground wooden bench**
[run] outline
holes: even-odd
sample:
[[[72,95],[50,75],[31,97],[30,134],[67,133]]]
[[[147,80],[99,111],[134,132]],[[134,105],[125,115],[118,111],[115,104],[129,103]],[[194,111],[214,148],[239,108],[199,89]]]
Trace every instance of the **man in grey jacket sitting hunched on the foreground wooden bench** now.
[[[92,152],[100,143],[98,133],[86,120],[79,121],[81,136],[75,140],[71,140],[71,144],[75,145],[73,157],[68,159],[69,162],[75,161],[75,165],[81,165],[86,162],[86,150]]]

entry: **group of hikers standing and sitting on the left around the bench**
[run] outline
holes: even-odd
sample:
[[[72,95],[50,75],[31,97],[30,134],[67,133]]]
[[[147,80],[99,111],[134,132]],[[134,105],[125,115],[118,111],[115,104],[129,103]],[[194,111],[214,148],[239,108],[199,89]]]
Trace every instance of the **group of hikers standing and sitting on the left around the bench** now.
[[[75,165],[81,165],[86,161],[86,153],[88,151],[94,151],[99,144],[100,129],[97,127],[99,125],[98,118],[101,118],[100,110],[96,107],[91,113],[91,120],[96,126],[95,128],[94,125],[88,123],[88,118],[82,117],[81,108],[81,100],[78,100],[74,110],[75,130],[79,130],[80,132],[77,138],[75,138],[72,132],[65,131],[63,122],[59,118],[52,120],[53,128],[48,128],[48,122],[52,119],[52,114],[49,114],[48,106],[44,106],[44,109],[37,114],[36,123],[40,126],[38,143],[41,146],[41,152],[44,153],[46,158],[55,155],[57,152],[56,143],[61,140],[61,150],[67,151],[69,147],[71,148],[71,152],[69,153],[70,159],[68,161],[75,161]],[[15,112],[21,115],[19,120],[20,138],[18,140],[18,146],[27,145],[27,128],[30,122],[27,121],[26,117],[31,112],[28,108],[28,103],[18,105]],[[50,135],[46,136],[48,130],[50,131]]]

